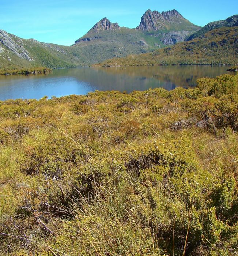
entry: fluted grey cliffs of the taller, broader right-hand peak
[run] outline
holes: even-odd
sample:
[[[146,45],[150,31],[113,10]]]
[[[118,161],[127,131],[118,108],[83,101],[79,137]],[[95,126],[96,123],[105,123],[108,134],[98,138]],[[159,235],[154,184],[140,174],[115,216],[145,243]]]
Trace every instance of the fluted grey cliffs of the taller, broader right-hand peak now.
[[[137,30],[163,30],[167,29],[170,23],[180,24],[186,19],[176,10],[158,12],[147,10],[141,18]]]

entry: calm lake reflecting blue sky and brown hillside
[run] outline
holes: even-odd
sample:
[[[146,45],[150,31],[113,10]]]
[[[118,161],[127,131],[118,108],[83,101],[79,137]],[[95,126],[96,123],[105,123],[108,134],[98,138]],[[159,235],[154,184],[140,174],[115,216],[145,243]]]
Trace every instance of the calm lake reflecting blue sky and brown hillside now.
[[[100,90],[144,91],[194,87],[200,77],[216,77],[228,67],[152,66],[55,69],[49,74],[0,76],[0,100],[40,99]]]

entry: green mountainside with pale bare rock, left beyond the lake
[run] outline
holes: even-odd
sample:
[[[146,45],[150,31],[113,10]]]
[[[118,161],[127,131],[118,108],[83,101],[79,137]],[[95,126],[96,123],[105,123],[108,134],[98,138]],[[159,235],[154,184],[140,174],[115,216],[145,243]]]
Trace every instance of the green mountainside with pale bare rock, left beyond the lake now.
[[[1,30],[2,31],[2,30]],[[67,46],[45,44],[34,39],[21,39],[2,32],[0,38],[0,69],[25,67],[67,67],[75,65],[76,58],[67,53]]]

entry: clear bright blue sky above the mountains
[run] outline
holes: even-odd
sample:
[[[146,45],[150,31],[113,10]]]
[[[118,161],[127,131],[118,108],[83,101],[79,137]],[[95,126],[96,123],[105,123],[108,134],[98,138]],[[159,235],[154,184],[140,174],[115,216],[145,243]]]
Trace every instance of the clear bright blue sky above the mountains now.
[[[61,45],[72,45],[104,17],[120,26],[136,27],[147,9],[176,9],[200,26],[238,14],[237,0],[0,0],[0,7],[0,29]]]

